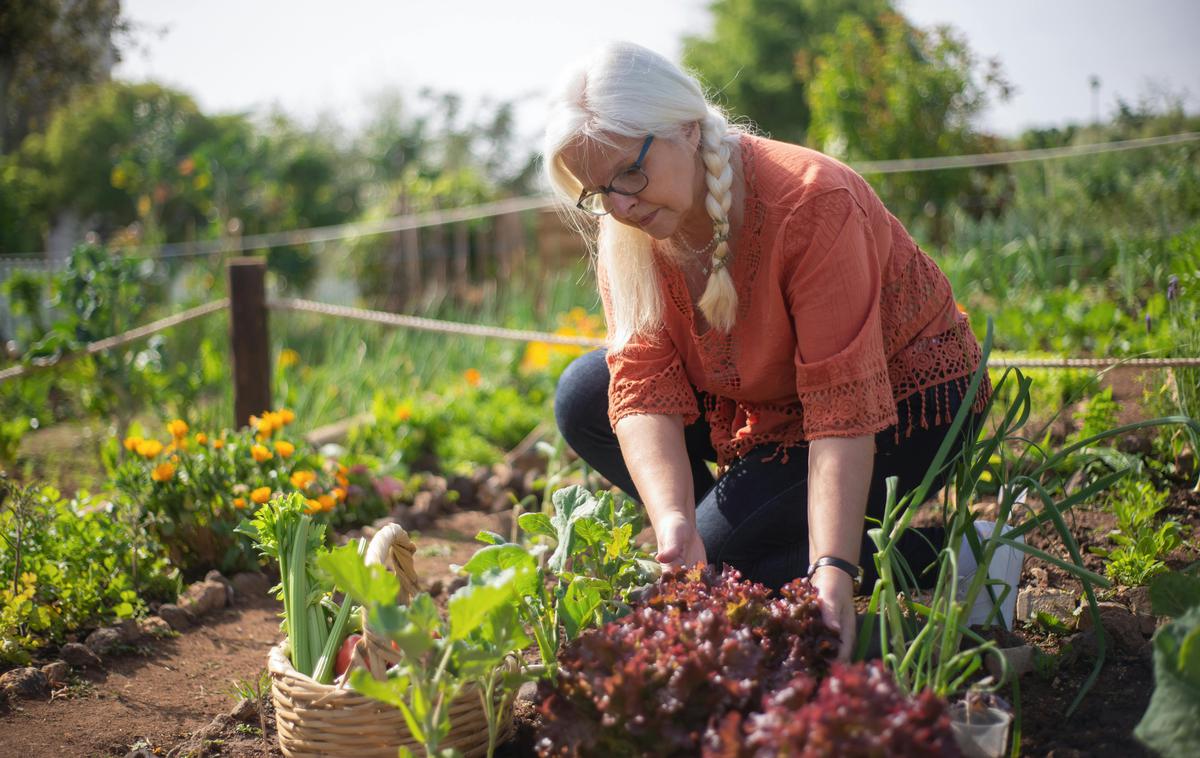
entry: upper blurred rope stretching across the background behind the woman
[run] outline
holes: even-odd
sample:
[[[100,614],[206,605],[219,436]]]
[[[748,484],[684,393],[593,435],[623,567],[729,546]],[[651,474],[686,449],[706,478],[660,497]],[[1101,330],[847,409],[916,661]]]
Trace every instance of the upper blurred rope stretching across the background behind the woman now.
[[[1033,150],[1008,150],[1003,152],[980,152],[974,155],[942,156],[928,158],[896,158],[890,161],[858,161],[850,163],[859,174],[898,174],[902,172],[930,172],[949,168],[971,168],[982,166],[1000,166],[1004,163],[1028,163],[1084,155],[1118,152],[1122,150],[1141,150],[1162,145],[1177,145],[1200,140],[1200,132],[1181,132],[1163,137],[1145,137],[1094,145],[1073,145],[1066,148],[1038,148]],[[193,255],[211,255],[216,253],[244,253],[263,247],[281,245],[306,245],[310,242],[331,242],[404,229],[440,227],[450,223],[488,218],[504,213],[542,210],[554,207],[558,200],[550,195],[527,195],[510,198],[481,205],[468,205],[454,210],[428,211],[407,216],[392,216],[378,221],[359,221],[329,227],[310,227],[290,231],[270,231],[253,234],[238,240],[204,240],[192,242],[164,242],[162,245],[144,245],[130,247],[124,252],[133,257],[187,258]],[[24,253],[30,258],[47,258],[48,254]]]

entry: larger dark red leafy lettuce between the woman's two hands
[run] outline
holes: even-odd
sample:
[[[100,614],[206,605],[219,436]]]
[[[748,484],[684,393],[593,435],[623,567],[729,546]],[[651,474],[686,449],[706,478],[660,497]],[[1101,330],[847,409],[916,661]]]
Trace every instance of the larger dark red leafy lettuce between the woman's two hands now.
[[[695,756],[726,714],[750,712],[797,675],[817,680],[838,637],[816,590],[779,597],[727,568],[672,570],[631,613],[590,630],[542,680],[542,756]]]

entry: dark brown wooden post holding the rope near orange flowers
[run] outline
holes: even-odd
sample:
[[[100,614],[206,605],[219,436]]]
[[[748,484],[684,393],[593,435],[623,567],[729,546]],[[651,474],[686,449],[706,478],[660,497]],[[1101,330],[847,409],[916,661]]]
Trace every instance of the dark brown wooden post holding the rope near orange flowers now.
[[[271,408],[271,356],[266,338],[266,259],[229,261],[229,354],[234,428]]]

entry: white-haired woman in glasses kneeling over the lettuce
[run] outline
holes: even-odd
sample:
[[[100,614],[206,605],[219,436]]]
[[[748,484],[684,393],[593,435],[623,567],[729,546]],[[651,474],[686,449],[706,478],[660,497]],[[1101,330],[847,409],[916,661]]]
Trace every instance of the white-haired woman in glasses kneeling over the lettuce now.
[[[924,476],[979,363],[944,275],[853,170],[732,126],[635,44],[568,72],[544,161],[608,324],[559,381],[564,438],[644,505],[658,560],[808,573],[848,655],[865,517]]]

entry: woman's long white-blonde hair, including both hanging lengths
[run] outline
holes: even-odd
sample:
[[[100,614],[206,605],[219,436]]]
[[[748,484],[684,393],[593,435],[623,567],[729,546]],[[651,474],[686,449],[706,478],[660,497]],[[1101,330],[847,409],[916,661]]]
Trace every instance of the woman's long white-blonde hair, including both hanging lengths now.
[[[550,96],[542,142],[546,179],[562,203],[564,218],[588,241],[596,264],[607,275],[612,315],[611,349],[620,349],[635,335],[662,325],[662,296],[644,231],[604,216],[599,224],[575,207],[583,187],[563,163],[562,152],[587,140],[608,148],[614,138],[678,140],[684,128],[698,124],[701,158],[708,194],[704,209],[721,237],[712,253],[708,285],[700,309],[714,327],[728,331],[737,315],[737,290],[727,271],[730,205],[733,197],[730,152],[739,127],[731,126],[720,108],[704,97],[697,79],[658,53],[631,42],[604,46],[564,73]]]

